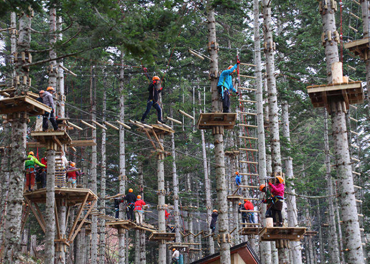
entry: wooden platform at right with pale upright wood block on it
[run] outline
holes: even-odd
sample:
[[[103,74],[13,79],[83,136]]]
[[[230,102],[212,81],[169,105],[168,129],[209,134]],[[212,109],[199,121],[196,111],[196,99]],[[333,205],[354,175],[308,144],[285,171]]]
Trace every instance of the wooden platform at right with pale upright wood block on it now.
[[[313,107],[328,108],[331,101],[344,101],[348,109],[349,104],[364,101],[364,91],[360,81],[308,86],[307,93]]]

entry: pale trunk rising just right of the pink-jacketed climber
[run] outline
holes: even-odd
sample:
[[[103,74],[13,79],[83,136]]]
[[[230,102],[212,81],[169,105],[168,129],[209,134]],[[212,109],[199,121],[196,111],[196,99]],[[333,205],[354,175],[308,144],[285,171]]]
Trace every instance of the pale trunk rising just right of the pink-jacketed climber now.
[[[289,110],[288,102],[282,102],[282,125],[283,125],[283,136],[286,138],[288,144],[291,142],[290,129],[289,129]],[[290,146],[287,148],[287,152],[290,153]],[[288,192],[293,195],[288,195],[287,206],[288,206],[288,226],[297,227],[297,207],[296,207],[296,190],[294,188],[294,174],[293,174],[293,159],[288,156],[285,160],[286,178],[289,180]],[[300,242],[292,241],[291,252],[293,264],[302,264],[302,254],[300,251]]]

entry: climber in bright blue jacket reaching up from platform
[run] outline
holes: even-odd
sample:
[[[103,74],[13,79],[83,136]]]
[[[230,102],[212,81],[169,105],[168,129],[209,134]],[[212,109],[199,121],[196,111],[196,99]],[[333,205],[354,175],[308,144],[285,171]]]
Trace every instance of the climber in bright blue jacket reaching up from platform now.
[[[238,60],[234,66],[230,65],[226,70],[223,70],[220,74],[219,82],[217,83],[217,88],[222,99],[222,109],[223,113],[229,112],[230,107],[230,91],[233,91],[236,95],[239,95],[239,92],[235,90],[232,86],[232,73],[235,72],[240,61]]]

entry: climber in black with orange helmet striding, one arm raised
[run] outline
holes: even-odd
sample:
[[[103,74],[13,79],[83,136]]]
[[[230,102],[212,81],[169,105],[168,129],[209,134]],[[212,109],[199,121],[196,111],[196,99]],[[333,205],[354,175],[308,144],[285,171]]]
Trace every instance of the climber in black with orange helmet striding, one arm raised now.
[[[147,78],[150,80],[147,68],[144,68],[144,72]],[[145,118],[147,117],[151,107],[153,106],[157,110],[158,121],[164,124],[164,121],[162,120],[162,108],[160,107],[158,102],[159,93],[161,93],[162,89],[164,88],[164,81],[163,86],[161,86],[161,79],[158,76],[153,76],[153,78],[151,78],[151,81],[152,83],[150,83],[148,87],[149,97],[147,101],[147,110],[141,118],[141,123],[145,123]]]

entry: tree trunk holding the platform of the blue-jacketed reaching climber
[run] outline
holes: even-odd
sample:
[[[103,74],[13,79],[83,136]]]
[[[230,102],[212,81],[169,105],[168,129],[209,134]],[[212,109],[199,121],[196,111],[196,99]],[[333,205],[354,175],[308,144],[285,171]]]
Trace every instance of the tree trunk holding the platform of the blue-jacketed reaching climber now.
[[[210,5],[211,1],[208,1]],[[217,90],[218,81],[218,55],[217,55],[217,39],[216,39],[216,21],[215,10],[208,6],[208,46],[209,54],[212,59],[210,62],[210,78],[212,91],[212,112],[221,112],[220,96]],[[225,189],[225,158],[223,153],[223,127],[213,128],[214,146],[215,146],[215,162],[216,166],[216,190],[217,203],[219,206],[219,235],[220,237],[228,237],[228,215],[227,215],[227,190]],[[220,243],[220,262],[222,264],[231,264],[230,260],[230,244],[227,239],[221,239]]]

